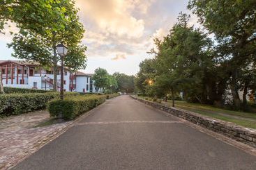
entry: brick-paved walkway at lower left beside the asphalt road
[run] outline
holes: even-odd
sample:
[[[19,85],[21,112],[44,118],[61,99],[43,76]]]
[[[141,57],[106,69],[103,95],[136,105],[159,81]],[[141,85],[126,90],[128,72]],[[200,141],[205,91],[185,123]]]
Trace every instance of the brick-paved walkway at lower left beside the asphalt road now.
[[[7,169],[33,153],[71,123],[34,128],[49,119],[45,110],[0,119],[0,169]]]

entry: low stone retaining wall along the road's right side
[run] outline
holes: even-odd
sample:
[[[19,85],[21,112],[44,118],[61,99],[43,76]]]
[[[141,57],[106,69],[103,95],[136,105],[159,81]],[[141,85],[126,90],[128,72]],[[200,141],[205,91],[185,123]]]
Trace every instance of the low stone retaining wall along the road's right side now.
[[[236,141],[249,144],[256,148],[256,130],[251,128],[244,128],[242,126],[237,126],[236,124],[222,121],[219,119],[214,119],[211,117],[206,117],[195,112],[190,112],[187,110],[182,110],[178,108],[170,108],[160,103],[155,103],[151,101],[146,101],[144,99],[138,99],[135,96],[131,96],[133,99],[145,103],[146,105],[151,105],[153,108],[163,110],[164,112],[170,113],[181,119],[186,119],[187,121],[197,124],[209,130],[213,130],[216,133],[221,133],[227,137],[231,137]]]

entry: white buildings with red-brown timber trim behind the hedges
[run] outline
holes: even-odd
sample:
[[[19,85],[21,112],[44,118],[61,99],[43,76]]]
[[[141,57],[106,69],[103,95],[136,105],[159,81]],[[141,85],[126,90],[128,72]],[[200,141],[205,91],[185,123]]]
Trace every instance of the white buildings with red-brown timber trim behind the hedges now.
[[[40,67],[38,62],[23,60],[0,60],[3,87],[19,87],[27,89],[52,90],[53,68]],[[91,80],[92,74],[72,73],[64,69],[64,85],[66,92],[96,92]],[[61,82],[61,67],[58,67],[58,90]]]

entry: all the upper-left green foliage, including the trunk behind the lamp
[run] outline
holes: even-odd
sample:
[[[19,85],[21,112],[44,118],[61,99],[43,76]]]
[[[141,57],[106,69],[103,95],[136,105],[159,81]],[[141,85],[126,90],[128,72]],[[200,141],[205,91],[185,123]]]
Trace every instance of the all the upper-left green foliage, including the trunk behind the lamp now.
[[[57,90],[57,65],[60,57],[56,45],[59,42],[68,46],[68,54],[64,58],[66,67],[74,71],[86,67],[86,46],[82,45],[84,28],[77,15],[75,1],[8,0],[0,6],[8,8],[2,15],[20,28],[13,42],[8,44],[14,50],[12,56],[54,67],[54,90]]]

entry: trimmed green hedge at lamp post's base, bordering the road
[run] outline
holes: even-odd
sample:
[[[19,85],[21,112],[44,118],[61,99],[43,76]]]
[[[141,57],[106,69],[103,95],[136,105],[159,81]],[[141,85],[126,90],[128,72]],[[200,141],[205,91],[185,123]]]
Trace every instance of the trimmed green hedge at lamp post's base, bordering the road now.
[[[48,103],[47,109],[52,117],[62,114],[63,119],[74,119],[78,115],[95,108],[106,99],[104,95],[73,96],[63,101],[56,99]]]

